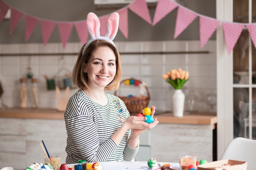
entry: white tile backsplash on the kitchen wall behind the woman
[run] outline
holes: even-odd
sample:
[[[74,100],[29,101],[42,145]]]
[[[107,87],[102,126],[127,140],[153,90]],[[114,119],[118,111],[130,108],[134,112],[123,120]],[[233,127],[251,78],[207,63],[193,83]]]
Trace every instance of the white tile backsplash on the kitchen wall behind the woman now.
[[[136,78],[148,85],[150,92],[149,106],[156,110],[171,110],[174,89],[162,79],[162,74],[172,69],[182,68],[190,72],[190,80],[184,85],[186,94],[194,90],[198,96],[200,111],[209,111],[206,96],[216,90],[216,41],[208,41],[203,49],[200,41],[129,41],[115,42],[119,52],[188,52],[209,51],[209,53],[182,54],[121,54],[122,79]],[[20,56],[0,57],[0,81],[4,88],[2,100],[8,107],[20,106],[20,78],[26,76],[31,62],[31,72],[38,78],[38,96],[40,108],[56,108],[57,98],[54,90],[47,90],[46,79],[54,78],[64,66],[72,71],[76,63],[80,43],[67,43],[63,49],[61,43],[43,44],[1,44],[0,52],[20,54]],[[33,53],[31,56],[22,54]],[[49,55],[41,55],[47,54]],[[60,53],[69,53],[61,55]],[[36,55],[38,54],[38,55]],[[58,55],[60,54],[60,55]],[[60,75],[65,75],[64,70]],[[137,93],[131,87],[120,87],[118,92]],[[77,89],[70,90],[70,96]],[[64,95],[65,91],[61,91]],[[114,94],[115,91],[109,92]]]

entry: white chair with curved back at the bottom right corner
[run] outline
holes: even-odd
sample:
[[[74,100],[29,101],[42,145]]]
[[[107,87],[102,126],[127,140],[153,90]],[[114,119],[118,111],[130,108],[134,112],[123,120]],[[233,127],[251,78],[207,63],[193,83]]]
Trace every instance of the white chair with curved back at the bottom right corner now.
[[[247,170],[255,170],[256,140],[237,137],[225,149],[221,159],[247,161]]]

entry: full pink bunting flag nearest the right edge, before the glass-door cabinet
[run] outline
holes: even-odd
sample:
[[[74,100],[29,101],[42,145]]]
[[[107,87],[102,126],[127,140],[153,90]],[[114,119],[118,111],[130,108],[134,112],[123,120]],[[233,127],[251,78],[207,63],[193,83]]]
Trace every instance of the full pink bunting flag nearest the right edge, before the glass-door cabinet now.
[[[223,23],[222,25],[223,25],[223,31],[224,31],[225,41],[227,45],[227,50],[228,50],[228,53],[230,54],[234,46],[236,45],[236,42],[240,37],[245,25],[238,24],[238,23]]]

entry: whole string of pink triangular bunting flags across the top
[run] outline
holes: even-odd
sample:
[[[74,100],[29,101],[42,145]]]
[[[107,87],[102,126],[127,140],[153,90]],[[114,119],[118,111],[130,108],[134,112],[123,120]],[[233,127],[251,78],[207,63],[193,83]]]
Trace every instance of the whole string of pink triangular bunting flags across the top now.
[[[201,15],[188,9],[173,0],[158,0],[155,9],[155,14],[153,17],[153,22],[151,20],[147,2],[146,0],[134,0],[126,7],[118,9],[117,11],[120,15],[119,30],[128,39],[128,9],[141,17],[143,20],[148,22],[151,26],[155,26],[160,20],[162,20],[166,15],[171,13],[177,8],[177,17],[175,24],[174,39],[176,39],[197,17],[199,17],[199,32],[200,32],[200,47],[204,48],[205,44],[209,41],[210,37],[216,31],[218,26],[222,26],[225,35],[225,43],[229,54],[232,52],[243,28],[247,28],[249,35],[256,46],[256,23],[238,23],[238,22],[223,22],[216,20],[216,18]],[[44,18],[39,18],[33,15],[29,15],[19,9],[12,7],[11,5],[0,0],[0,23],[3,21],[8,10],[11,10],[10,17],[10,30],[9,35],[12,34],[13,30],[17,26],[20,19],[25,16],[25,42],[28,41],[29,37],[33,33],[36,25],[40,23],[43,37],[43,44],[46,46],[49,38],[52,35],[54,27],[58,26],[58,32],[61,37],[61,42],[63,48],[65,48],[68,39],[70,37],[73,26],[76,29],[76,33],[82,44],[85,44],[88,39],[88,30],[86,27],[86,19],[81,21],[73,22],[60,22],[53,20],[46,20]],[[101,34],[105,35],[107,31],[107,20],[111,13],[103,16],[99,16],[101,22]],[[104,24],[105,23],[105,24]],[[106,26],[106,27],[104,27]]]

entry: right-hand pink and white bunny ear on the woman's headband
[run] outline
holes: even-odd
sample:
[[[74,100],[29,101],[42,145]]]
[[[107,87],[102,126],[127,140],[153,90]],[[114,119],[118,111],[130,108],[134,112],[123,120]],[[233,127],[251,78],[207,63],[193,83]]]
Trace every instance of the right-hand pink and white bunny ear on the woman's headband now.
[[[117,12],[112,13],[108,17],[108,32],[105,37],[108,37],[110,40],[113,40],[117,35],[119,25],[119,14]]]

